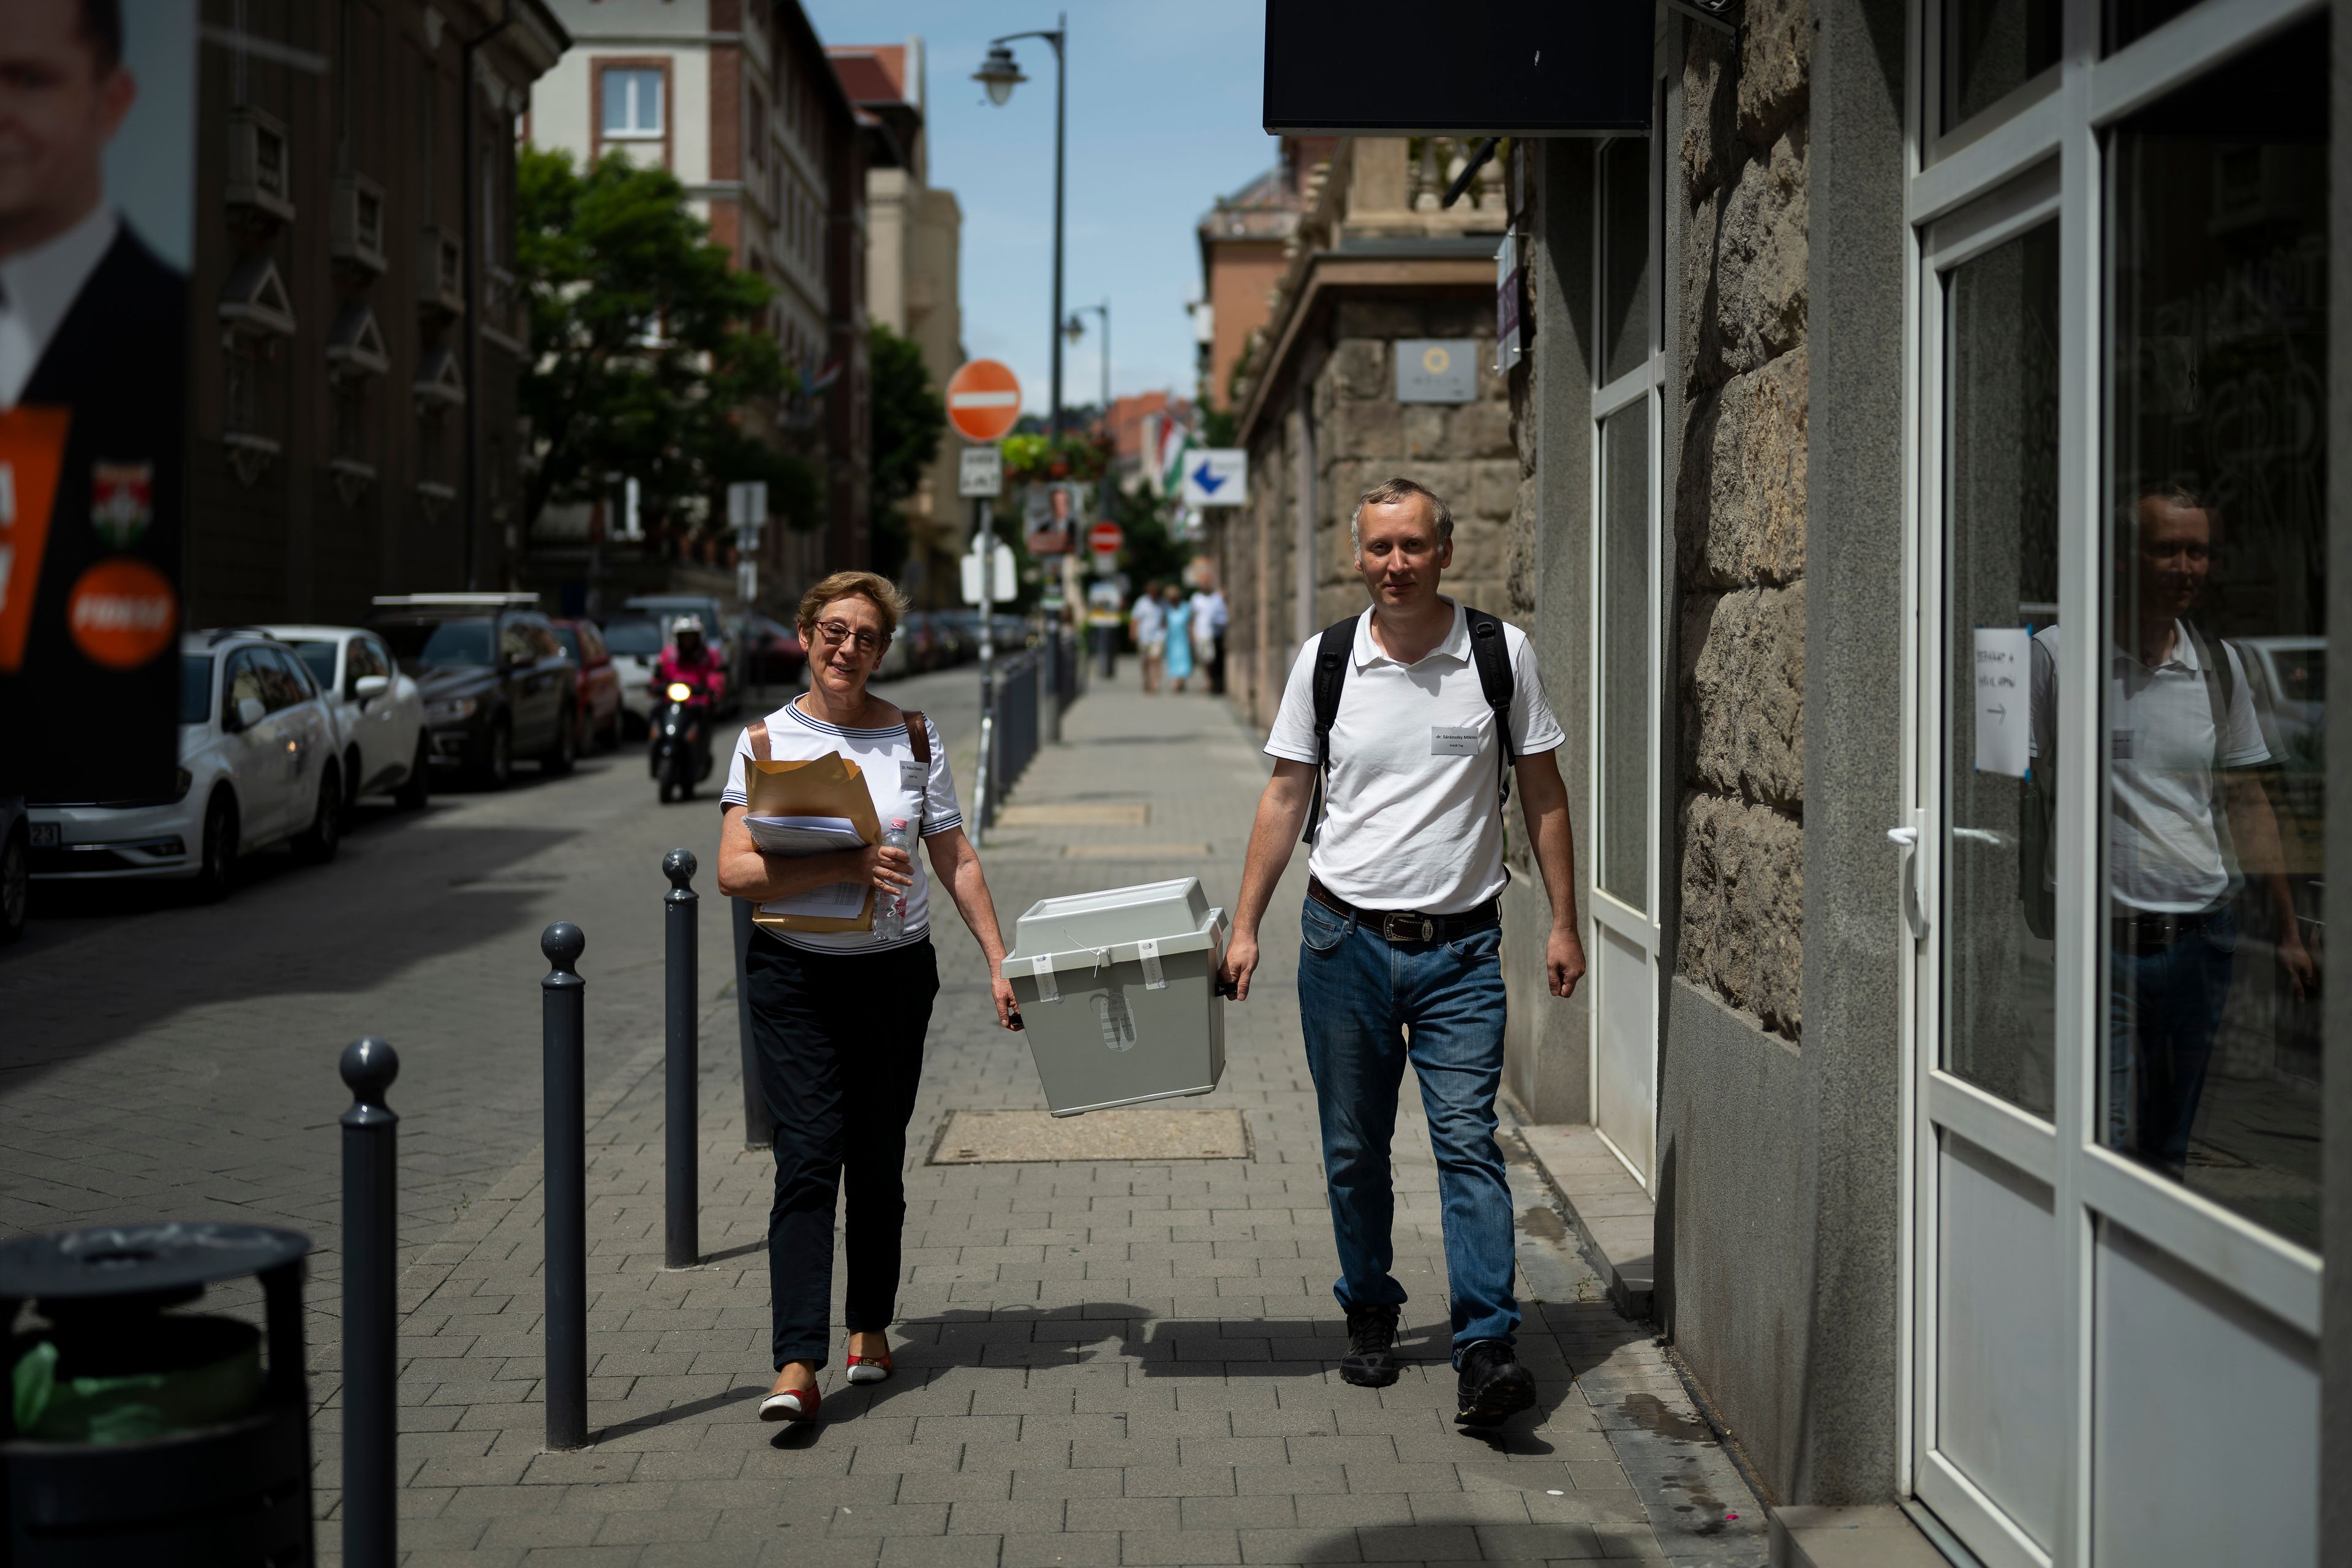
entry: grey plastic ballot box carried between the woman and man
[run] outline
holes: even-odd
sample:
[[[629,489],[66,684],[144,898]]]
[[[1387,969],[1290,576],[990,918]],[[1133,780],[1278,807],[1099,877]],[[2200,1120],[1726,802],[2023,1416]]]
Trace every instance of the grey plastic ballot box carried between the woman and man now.
[[[1204,1095],[1225,1074],[1225,912],[1200,877],[1040,898],[1004,954],[1047,1107]]]

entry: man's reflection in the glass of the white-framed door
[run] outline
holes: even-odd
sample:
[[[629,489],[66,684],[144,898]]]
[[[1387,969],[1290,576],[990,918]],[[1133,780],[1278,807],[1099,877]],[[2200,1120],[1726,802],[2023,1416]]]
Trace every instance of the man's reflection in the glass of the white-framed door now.
[[[2180,1178],[2237,957],[2237,898],[2270,900],[2296,997],[2303,947],[2279,825],[2253,769],[2263,743],[2246,663],[2197,623],[2216,517],[2150,484],[2119,520],[2107,658],[2107,1114],[2105,1140]],[[2056,762],[2058,628],[2034,637],[2034,755]]]

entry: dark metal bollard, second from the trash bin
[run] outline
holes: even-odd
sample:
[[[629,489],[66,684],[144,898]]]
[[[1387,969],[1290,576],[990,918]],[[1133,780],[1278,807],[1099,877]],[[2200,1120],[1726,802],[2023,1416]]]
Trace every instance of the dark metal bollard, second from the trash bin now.
[[[588,1446],[588,983],[576,964],[588,938],[569,919],[539,936],[546,1072],[548,1448]]]

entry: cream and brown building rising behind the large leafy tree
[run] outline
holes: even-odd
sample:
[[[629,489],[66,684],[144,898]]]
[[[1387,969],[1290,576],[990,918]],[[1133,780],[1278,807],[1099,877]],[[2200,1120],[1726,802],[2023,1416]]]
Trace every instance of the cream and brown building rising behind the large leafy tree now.
[[[590,162],[659,165],[710,240],[774,289],[769,331],[802,390],[776,440],[811,458],[816,529],[769,520],[760,597],[788,604],[866,562],[866,141],[795,0],[550,0],[572,49],[532,92],[524,134]],[[619,508],[550,508],[541,536],[579,543]],[[717,562],[724,564],[724,562]]]

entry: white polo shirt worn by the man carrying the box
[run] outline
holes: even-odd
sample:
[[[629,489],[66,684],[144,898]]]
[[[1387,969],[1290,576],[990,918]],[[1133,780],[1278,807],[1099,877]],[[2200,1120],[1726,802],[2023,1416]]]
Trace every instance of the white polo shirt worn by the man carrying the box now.
[[[1451,602],[1451,599],[1449,599]],[[1308,639],[1282,689],[1265,755],[1315,764],[1315,646]],[[1536,651],[1503,625],[1510,654],[1510,733],[1522,757],[1566,736],[1543,698]],[[1317,882],[1367,910],[1461,914],[1503,891],[1501,741],[1470,658],[1470,618],[1418,663],[1399,665],[1355,623],[1355,656],[1331,722],[1331,785],[1308,856]]]

